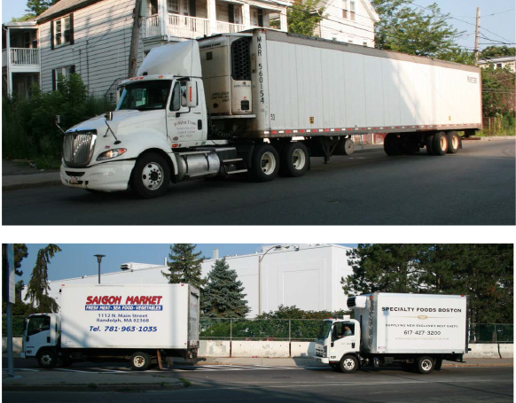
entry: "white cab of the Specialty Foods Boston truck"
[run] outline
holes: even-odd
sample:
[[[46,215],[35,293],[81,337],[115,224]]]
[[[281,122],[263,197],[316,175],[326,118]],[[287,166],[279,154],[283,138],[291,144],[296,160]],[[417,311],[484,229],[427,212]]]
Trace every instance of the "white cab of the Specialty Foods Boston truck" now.
[[[349,316],[326,319],[317,335],[315,360],[351,372],[358,368],[360,323]]]

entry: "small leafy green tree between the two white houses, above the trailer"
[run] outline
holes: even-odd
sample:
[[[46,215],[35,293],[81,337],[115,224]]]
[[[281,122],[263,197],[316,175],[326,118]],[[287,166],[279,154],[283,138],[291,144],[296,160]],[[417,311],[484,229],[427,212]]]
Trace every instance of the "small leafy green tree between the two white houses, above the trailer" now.
[[[324,7],[317,7],[319,0],[294,0],[286,11],[288,32],[297,35],[314,35],[314,28],[324,19]]]

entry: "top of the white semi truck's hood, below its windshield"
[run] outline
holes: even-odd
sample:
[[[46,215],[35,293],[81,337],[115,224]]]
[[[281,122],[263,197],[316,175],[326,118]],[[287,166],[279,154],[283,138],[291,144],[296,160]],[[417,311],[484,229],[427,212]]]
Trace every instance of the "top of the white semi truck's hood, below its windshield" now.
[[[165,111],[163,109],[157,111],[137,111],[134,109],[114,111],[113,120],[109,121],[109,126],[112,128],[115,136],[118,136],[118,131],[126,126],[137,125],[143,121],[151,122],[152,120],[164,119]],[[104,136],[106,134],[107,125],[104,115],[98,115],[90,120],[84,120],[81,123],[75,125],[73,128],[66,130],[67,132],[73,132],[77,130],[97,130],[98,136]],[[112,136],[111,133],[107,134]],[[112,136],[113,137],[113,136]]]

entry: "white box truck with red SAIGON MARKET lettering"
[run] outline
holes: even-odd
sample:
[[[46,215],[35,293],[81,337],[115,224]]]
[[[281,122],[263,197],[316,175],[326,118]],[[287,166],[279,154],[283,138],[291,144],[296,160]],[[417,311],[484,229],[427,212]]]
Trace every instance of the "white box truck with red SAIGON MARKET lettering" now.
[[[64,285],[59,314],[31,314],[22,358],[40,367],[129,360],[145,370],[167,357],[195,358],[199,290],[189,284]]]

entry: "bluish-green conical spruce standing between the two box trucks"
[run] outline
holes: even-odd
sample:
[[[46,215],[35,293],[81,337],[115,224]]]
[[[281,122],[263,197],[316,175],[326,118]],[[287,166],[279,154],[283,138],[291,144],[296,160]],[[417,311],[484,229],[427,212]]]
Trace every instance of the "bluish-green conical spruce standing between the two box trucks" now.
[[[242,282],[226,259],[215,260],[201,296],[202,312],[210,318],[245,318],[249,312]]]

